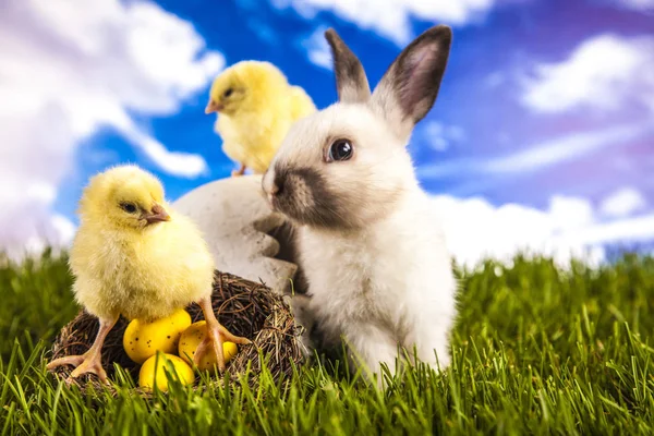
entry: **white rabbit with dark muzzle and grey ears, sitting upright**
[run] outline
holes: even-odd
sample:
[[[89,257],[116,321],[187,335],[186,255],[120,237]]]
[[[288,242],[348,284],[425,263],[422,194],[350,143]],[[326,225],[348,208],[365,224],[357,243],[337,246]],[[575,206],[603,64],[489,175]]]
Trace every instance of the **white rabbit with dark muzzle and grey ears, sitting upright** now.
[[[436,100],[451,29],[420,35],[372,94],[354,53],[334,29],[325,36],[339,101],[293,125],[264,192],[296,226],[310,308],[327,338],[344,339],[370,375],[380,363],[397,370],[398,346],[443,370],[457,283],[405,146]]]

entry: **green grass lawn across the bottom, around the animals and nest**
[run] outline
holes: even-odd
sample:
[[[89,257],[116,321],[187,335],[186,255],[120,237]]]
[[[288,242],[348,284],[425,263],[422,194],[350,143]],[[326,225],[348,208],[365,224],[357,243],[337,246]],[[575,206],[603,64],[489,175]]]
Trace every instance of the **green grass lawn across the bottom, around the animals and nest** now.
[[[451,367],[383,393],[306,367],[226,389],[82,396],[44,368],[76,312],[65,261],[0,266],[0,432],[17,434],[652,434],[654,258],[591,270],[547,259],[462,272]]]

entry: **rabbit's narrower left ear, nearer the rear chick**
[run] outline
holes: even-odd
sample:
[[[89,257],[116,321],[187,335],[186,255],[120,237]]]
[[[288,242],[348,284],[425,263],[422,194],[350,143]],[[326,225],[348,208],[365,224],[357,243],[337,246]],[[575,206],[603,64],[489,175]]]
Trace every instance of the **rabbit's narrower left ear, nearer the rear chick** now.
[[[343,102],[366,102],[371,98],[371,87],[361,61],[334,28],[325,31],[325,38],[331,47],[338,99]]]

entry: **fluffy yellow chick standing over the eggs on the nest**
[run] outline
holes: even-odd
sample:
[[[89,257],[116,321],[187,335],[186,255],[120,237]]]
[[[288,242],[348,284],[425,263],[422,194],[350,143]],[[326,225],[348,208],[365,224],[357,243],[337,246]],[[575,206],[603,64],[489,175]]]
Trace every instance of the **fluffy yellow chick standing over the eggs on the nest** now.
[[[100,328],[86,353],[57,359],[48,370],[70,364],[76,366],[71,377],[94,373],[107,383],[101,349],[120,315],[153,320],[192,302],[201,305],[210,326],[195,353],[197,362],[210,350],[222,371],[222,342],[250,343],[216,319],[210,301],[215,265],[208,246],[192,220],[166,203],[154,175],[136,166],[95,175],[78,214],[70,253],[73,292],[98,317]]]

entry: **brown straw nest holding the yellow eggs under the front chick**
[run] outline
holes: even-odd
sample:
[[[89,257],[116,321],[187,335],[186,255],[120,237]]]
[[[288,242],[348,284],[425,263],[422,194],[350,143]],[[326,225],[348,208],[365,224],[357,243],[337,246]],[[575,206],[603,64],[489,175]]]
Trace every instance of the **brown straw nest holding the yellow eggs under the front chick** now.
[[[237,336],[244,336],[253,344],[240,346],[239,353],[227,365],[230,378],[245,373],[250,366],[250,384],[256,386],[261,373],[262,359],[276,382],[283,380],[304,363],[301,350],[301,327],[295,325],[289,305],[281,295],[264,284],[243,278],[216,271],[214,293],[211,294],[214,311],[218,320]],[[186,307],[193,322],[204,319],[197,304]],[[126,370],[134,380],[138,379],[140,365],[130,360],[123,350],[122,338],[128,320],[120,318],[109,332],[102,348],[102,365],[110,380],[114,379],[114,363]],[[83,354],[93,343],[98,331],[98,319],[85,311],[65,325],[52,346],[51,359],[71,354]],[[65,379],[73,371],[65,365],[53,370],[55,374]],[[215,383],[221,383],[215,376]],[[100,382],[95,375],[87,374],[70,380],[82,390],[99,388]],[[112,389],[109,387],[109,389]],[[137,389],[142,395],[146,391]]]

